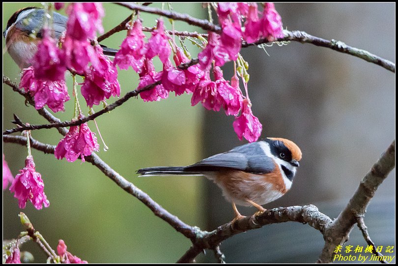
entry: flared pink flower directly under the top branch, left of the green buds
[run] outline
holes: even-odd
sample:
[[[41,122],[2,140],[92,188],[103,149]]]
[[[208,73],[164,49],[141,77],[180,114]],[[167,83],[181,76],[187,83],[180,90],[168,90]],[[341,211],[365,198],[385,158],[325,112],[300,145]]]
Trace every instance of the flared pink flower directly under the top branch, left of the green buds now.
[[[207,40],[206,47],[198,54],[200,68],[205,70],[213,60],[216,66],[223,66],[230,59],[221,44],[220,35],[215,32],[209,32]]]

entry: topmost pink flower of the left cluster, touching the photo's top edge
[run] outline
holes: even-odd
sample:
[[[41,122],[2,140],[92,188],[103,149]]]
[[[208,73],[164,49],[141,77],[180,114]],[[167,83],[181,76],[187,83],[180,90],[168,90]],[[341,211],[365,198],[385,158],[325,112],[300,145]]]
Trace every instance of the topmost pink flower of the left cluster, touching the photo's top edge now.
[[[86,41],[87,38],[95,37],[96,30],[100,33],[104,31],[101,19],[105,12],[102,3],[74,2],[68,6],[66,13],[69,15],[66,39]]]

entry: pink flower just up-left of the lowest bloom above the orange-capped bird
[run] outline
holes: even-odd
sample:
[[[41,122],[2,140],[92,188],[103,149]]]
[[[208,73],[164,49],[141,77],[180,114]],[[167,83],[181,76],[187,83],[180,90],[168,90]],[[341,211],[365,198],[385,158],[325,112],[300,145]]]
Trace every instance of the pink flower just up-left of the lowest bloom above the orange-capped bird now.
[[[223,71],[216,66],[213,69],[219,101],[222,103],[227,116],[235,116],[242,105],[242,92],[239,87],[232,87],[223,77]],[[236,84],[234,84],[236,86]]]

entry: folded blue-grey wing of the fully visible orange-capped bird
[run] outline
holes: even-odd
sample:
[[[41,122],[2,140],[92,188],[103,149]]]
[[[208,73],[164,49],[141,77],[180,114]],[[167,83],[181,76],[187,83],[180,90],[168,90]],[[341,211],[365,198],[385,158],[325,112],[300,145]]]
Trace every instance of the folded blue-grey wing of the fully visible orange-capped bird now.
[[[267,174],[274,170],[274,161],[264,154],[258,144],[246,144],[230,151],[213,155],[187,166],[186,170],[220,171],[224,168],[255,174]]]

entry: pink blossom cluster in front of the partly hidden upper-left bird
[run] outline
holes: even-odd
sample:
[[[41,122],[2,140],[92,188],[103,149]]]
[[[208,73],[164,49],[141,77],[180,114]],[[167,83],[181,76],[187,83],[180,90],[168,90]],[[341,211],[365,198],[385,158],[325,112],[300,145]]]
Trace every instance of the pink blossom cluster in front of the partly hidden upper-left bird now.
[[[47,105],[54,112],[65,110],[64,103],[70,99],[65,84],[66,70],[85,76],[82,94],[89,107],[120,95],[114,64],[104,56],[99,45],[91,45],[96,32],[104,31],[102,4],[71,3],[66,13],[69,19],[60,44],[52,38],[51,30],[44,30],[32,66],[22,74],[20,88],[34,97],[36,109]]]

